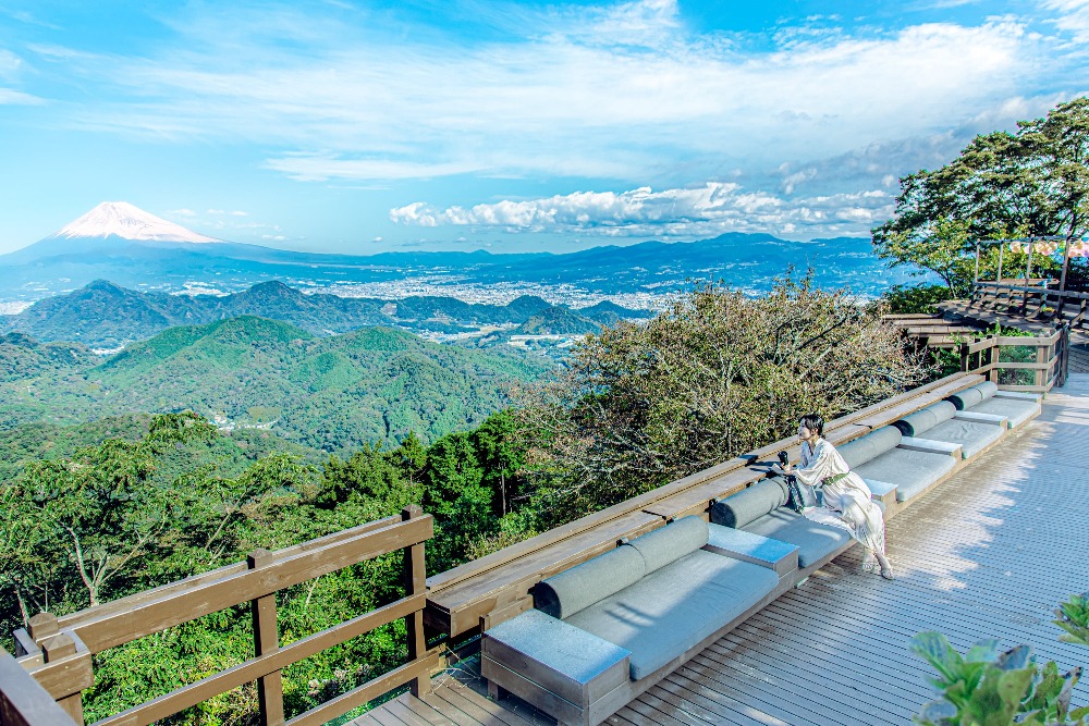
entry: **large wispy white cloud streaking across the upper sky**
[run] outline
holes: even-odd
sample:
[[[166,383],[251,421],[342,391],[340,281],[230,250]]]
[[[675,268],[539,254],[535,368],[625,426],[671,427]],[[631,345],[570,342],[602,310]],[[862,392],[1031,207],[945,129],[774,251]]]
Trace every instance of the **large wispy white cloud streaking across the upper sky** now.
[[[767,52],[690,33],[673,0],[512,12],[521,37],[425,44],[284,9],[206,11],[156,58],[70,61],[115,91],[72,123],[260,143],[281,149],[267,168],[303,181],[682,184],[957,125],[1031,87],[1047,52],[1008,19],[797,36]]]

